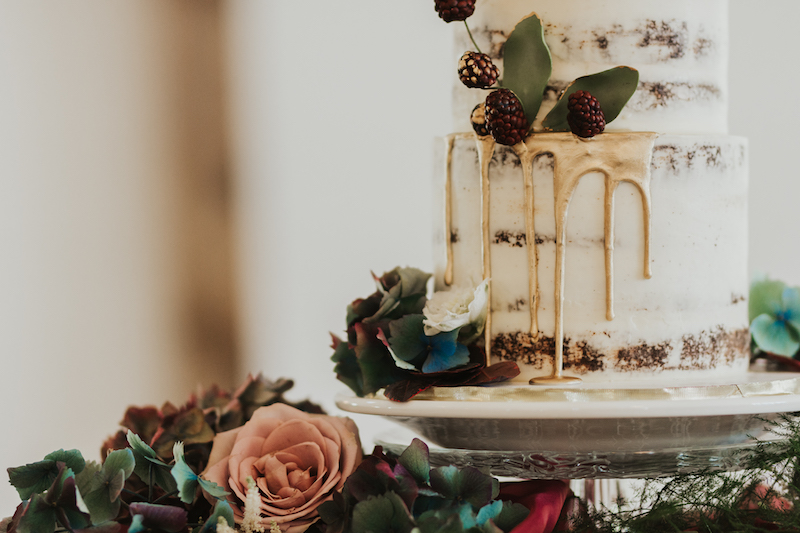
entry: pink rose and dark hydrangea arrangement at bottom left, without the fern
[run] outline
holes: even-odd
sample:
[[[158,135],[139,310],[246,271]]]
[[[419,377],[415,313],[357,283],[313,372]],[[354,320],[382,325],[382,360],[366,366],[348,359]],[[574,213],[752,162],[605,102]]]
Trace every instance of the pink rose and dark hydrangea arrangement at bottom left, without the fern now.
[[[432,468],[419,440],[365,457],[352,420],[288,402],[291,386],[251,376],[180,408],[130,407],[102,462],[58,450],[9,468],[22,503],[0,532],[520,533],[531,515],[551,529],[560,516],[564,483],[510,490],[476,468]]]

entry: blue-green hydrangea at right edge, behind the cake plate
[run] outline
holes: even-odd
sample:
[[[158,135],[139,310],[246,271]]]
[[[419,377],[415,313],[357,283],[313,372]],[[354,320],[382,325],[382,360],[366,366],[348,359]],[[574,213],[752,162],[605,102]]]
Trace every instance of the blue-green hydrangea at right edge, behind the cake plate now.
[[[774,280],[750,287],[750,332],[758,347],[792,357],[800,350],[800,288]]]

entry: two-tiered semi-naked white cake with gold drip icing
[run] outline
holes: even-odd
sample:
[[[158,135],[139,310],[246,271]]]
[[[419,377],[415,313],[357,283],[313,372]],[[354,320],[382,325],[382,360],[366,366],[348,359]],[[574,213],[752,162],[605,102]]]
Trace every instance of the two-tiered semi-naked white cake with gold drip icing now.
[[[727,1],[479,0],[469,26],[501,72],[531,12],[553,70],[524,143],[473,133],[487,93],[456,80],[469,133],[442,143],[437,290],[491,279],[489,356],[518,381],[743,375],[747,144],[727,135]],[[639,85],[605,133],[543,131],[571,80],[618,65]]]

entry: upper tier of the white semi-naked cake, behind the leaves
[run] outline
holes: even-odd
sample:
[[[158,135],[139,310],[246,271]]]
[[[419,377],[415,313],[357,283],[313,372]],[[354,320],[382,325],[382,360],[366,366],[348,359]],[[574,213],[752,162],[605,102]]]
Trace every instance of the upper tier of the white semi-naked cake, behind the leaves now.
[[[537,128],[572,80],[626,65],[639,71],[639,88],[607,131],[727,133],[727,0],[478,0],[467,22],[501,78],[503,44],[531,13],[553,58]],[[453,25],[456,52],[474,50],[463,23]],[[454,128],[469,131],[486,91],[455,83]]]

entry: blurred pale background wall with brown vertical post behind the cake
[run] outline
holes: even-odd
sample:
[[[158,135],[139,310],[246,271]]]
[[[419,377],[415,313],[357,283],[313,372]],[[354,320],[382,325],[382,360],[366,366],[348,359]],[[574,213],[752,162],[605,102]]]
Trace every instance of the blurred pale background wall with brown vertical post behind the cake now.
[[[248,372],[336,412],[328,331],[433,263],[460,55],[429,0],[346,4],[0,0],[0,467]],[[750,270],[800,284],[800,3],[730,9]]]

